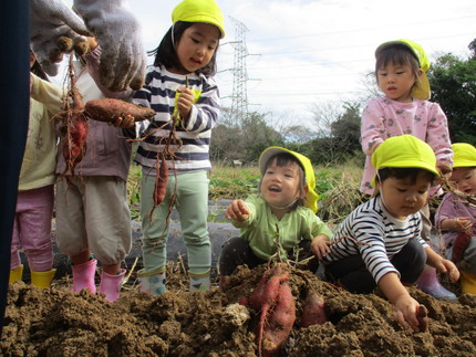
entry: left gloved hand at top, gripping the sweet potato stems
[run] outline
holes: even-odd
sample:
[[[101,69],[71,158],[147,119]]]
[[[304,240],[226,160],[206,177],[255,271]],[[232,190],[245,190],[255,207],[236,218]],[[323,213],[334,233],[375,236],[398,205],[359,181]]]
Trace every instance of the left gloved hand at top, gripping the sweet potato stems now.
[[[44,72],[56,75],[63,53],[71,52],[81,35],[91,35],[83,20],[62,0],[30,0],[30,41]],[[69,42],[59,40],[71,39]]]

